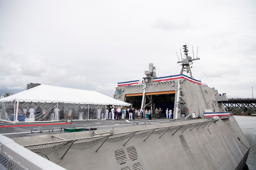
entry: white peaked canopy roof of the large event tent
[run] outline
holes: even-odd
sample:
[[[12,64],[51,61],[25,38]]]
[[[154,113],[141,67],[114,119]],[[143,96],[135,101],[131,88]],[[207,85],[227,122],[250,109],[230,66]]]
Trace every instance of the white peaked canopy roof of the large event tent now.
[[[76,104],[106,104],[115,106],[129,106],[126,103],[108,97],[97,91],[80,90],[73,88],[39,85],[37,87],[22,91],[0,99],[0,102],[47,102],[47,103],[76,103]]]

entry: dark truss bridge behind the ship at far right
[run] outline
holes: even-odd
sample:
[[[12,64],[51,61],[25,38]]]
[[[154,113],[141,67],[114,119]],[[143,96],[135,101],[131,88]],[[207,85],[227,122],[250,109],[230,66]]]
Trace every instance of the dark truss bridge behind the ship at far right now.
[[[256,114],[256,98],[228,98],[228,101],[224,101],[223,104],[226,111],[233,114]]]

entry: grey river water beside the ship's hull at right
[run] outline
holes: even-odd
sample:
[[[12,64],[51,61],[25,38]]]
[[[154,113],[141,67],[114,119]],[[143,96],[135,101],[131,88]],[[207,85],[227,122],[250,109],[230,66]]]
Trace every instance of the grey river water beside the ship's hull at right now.
[[[251,145],[250,150],[256,152],[256,116],[234,116],[243,134]],[[256,170],[256,153],[249,152],[247,162],[247,167],[244,170]]]

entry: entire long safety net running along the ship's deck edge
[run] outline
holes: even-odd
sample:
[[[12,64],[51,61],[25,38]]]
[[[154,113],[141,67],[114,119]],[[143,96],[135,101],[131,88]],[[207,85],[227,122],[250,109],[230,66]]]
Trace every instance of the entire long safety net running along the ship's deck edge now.
[[[161,128],[152,128],[152,129],[144,129],[144,130],[135,130],[130,132],[122,132],[116,134],[108,134],[108,135],[101,135],[101,136],[92,136],[92,137],[85,137],[85,138],[78,138],[78,139],[67,139],[61,141],[54,141],[54,142],[46,142],[46,143],[38,143],[38,144],[31,144],[31,145],[24,145],[23,147],[41,155],[47,155],[59,149],[60,147],[69,147],[71,149],[78,149],[84,150],[89,149],[100,142],[103,142],[106,138],[106,142],[119,142],[130,138],[142,138],[147,135],[152,134],[161,134],[164,132],[174,132],[175,130],[185,130],[187,128],[193,128],[195,126],[202,126],[207,124],[212,124],[215,120],[210,120],[206,122],[198,122],[198,123],[190,123],[185,125],[177,125],[177,126],[168,126],[168,127],[161,127]],[[180,127],[182,126],[182,127]],[[73,143],[72,143],[73,142]],[[0,157],[1,159],[1,157]],[[0,169],[1,170],[1,169]]]

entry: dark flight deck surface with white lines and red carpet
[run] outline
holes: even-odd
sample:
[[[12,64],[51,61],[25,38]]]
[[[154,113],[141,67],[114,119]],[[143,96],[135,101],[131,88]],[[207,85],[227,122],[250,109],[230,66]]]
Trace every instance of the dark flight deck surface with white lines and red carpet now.
[[[70,121],[66,123],[66,121],[58,121],[58,122],[35,122],[35,123],[6,123],[0,122],[0,134],[4,135],[8,138],[18,138],[18,137],[25,137],[25,136],[38,136],[38,135],[49,135],[49,134],[58,134],[58,133],[69,133],[64,132],[64,128],[68,127],[97,127],[98,130],[100,129],[112,129],[119,128],[119,127],[131,127],[131,126],[141,126],[141,125],[148,125],[149,123],[146,121],[150,121],[150,124],[161,124],[161,123],[170,123],[172,126],[173,122],[183,122],[183,121],[192,121],[191,120],[184,120],[184,119],[166,119],[166,117],[162,117],[162,119],[156,119],[152,117],[152,120],[146,118],[140,118],[135,120],[86,120],[86,121],[73,121],[70,124]],[[138,122],[138,124],[134,124],[134,122]],[[146,122],[146,123],[145,123]],[[190,122],[189,122],[190,123]],[[42,128],[42,132],[34,131],[31,133],[33,128]],[[52,132],[53,127],[62,127],[62,131],[54,130]],[[49,132],[50,130],[50,132]]]

